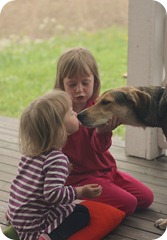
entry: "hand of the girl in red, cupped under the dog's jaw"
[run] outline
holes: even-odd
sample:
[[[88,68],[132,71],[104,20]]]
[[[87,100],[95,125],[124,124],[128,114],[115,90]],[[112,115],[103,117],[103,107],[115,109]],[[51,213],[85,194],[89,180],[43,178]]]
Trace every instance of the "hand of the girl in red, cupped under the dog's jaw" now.
[[[119,118],[113,116],[106,124],[103,124],[96,128],[97,133],[105,133],[105,132],[112,132],[115,128],[117,128],[121,124]]]

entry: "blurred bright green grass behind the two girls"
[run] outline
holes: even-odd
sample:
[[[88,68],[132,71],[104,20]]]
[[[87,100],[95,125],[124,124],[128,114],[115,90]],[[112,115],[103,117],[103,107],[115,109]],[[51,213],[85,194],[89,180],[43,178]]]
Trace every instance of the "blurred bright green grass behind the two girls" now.
[[[127,71],[127,41],[127,29],[120,27],[49,40],[8,41],[0,47],[0,115],[19,117],[34,98],[52,89],[57,59],[71,47],[82,46],[93,53],[99,66],[101,92],[126,85],[122,74]],[[123,135],[122,127],[116,131]]]

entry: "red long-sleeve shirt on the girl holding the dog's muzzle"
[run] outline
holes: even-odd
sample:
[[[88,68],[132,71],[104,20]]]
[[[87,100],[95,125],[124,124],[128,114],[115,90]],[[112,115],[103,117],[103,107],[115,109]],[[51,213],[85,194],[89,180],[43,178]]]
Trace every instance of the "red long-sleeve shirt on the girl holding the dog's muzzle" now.
[[[90,102],[86,107],[93,105]],[[76,185],[87,177],[108,175],[116,168],[116,162],[109,148],[111,133],[97,134],[95,129],[80,125],[79,130],[68,137],[63,152],[73,164],[67,185]]]

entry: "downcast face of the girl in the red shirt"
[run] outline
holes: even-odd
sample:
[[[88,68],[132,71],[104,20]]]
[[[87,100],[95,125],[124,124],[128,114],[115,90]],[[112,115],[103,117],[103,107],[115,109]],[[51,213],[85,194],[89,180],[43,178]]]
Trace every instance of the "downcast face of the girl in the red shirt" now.
[[[93,94],[94,75],[64,78],[64,90],[72,97],[73,105],[86,105]],[[75,108],[74,108],[75,109]]]

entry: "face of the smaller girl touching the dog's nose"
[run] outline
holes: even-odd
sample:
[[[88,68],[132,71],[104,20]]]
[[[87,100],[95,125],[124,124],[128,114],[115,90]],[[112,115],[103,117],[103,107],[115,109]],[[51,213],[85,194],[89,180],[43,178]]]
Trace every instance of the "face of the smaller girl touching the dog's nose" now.
[[[79,130],[79,121],[77,119],[77,113],[69,108],[64,117],[64,125],[68,135],[71,135]]]

